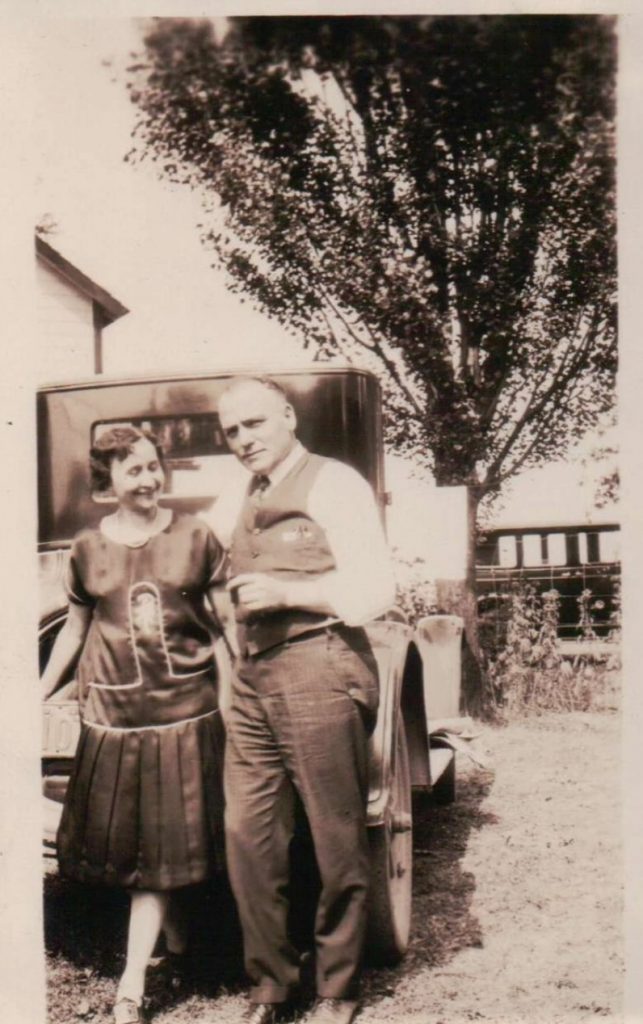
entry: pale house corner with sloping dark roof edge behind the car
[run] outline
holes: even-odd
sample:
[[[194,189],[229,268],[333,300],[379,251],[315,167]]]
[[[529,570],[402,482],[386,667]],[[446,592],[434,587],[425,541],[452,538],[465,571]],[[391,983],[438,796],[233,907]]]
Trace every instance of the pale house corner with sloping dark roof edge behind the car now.
[[[57,383],[102,373],[102,332],[129,312],[104,288],[36,234],[39,377]]]

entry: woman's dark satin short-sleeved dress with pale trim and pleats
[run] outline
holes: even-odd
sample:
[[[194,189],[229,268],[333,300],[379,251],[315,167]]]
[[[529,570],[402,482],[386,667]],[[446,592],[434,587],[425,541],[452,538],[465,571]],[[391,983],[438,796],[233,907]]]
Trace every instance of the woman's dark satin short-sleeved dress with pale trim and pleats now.
[[[139,546],[76,538],[70,601],[92,609],[81,734],[58,829],[63,874],[165,890],[223,864],[223,724],[206,591],[225,556],[187,515]]]

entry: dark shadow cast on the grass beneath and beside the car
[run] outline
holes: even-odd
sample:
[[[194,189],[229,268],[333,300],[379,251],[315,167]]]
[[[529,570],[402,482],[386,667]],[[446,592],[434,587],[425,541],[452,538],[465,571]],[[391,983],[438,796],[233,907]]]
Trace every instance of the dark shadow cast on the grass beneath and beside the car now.
[[[491,781],[488,772],[472,770],[463,773],[455,804],[440,807],[426,798],[416,801],[411,946],[394,968],[367,967],[366,1002],[391,995],[401,978],[427,967],[443,966],[459,950],[481,944],[478,922],[470,911],[475,879],[463,871],[461,861],[471,833],[496,820],[482,809]],[[314,865],[306,858],[297,853],[295,860],[298,870],[293,903],[300,912],[293,926],[298,945],[305,948],[312,932],[318,881]],[[191,970],[180,990],[181,998],[188,993],[214,998],[223,991],[245,990],[241,932],[225,880],[185,890],[181,899],[192,934]],[[120,890],[77,885],[56,873],[48,874],[45,947],[52,985],[81,991],[88,979],[88,987],[97,983],[101,991],[112,991],[123,969],[127,912],[128,899]],[[305,975],[310,966],[308,962]],[[307,987],[304,984],[304,991]],[[158,973],[149,972],[148,992],[152,1010],[167,1009],[178,994],[168,986],[162,966]],[[53,992],[51,995],[55,1001]],[[57,1019],[53,1006],[50,1010],[51,1018]]]

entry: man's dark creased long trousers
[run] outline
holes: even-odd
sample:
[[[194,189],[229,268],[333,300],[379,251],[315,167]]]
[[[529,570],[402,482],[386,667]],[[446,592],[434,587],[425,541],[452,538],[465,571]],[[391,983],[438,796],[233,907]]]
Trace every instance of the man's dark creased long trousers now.
[[[317,994],[356,993],[370,873],[368,739],[378,701],[377,664],[361,629],[329,630],[238,666],[226,723],[225,842],[253,1001],[281,1002],[299,981],[287,924],[297,795],[322,883]]]

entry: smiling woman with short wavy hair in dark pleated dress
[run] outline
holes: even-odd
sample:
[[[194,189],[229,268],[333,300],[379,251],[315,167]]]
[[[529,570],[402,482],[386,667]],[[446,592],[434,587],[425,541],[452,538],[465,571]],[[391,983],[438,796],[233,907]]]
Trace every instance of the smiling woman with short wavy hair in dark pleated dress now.
[[[58,860],[70,878],[130,891],[114,1017],[134,1024],[161,931],[170,953],[184,950],[171,893],[222,864],[223,735],[204,597],[213,604],[224,555],[204,522],[159,506],[165,474],[152,435],[115,427],[90,465],[118,509],[74,542],[69,617],[42,682],[47,697],[80,654],[81,735]]]

